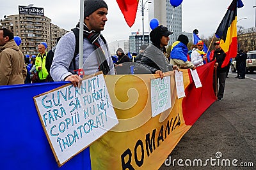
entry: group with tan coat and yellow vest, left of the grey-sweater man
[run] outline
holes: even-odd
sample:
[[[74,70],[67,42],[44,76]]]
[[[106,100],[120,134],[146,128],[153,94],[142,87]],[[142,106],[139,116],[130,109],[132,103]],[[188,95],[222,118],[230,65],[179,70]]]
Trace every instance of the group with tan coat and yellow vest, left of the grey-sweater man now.
[[[0,29],[0,85],[53,81],[49,75],[49,67],[54,48],[47,53],[47,43],[42,42],[38,45],[37,56],[23,55],[19,49],[19,41],[21,39],[14,37],[9,29]]]

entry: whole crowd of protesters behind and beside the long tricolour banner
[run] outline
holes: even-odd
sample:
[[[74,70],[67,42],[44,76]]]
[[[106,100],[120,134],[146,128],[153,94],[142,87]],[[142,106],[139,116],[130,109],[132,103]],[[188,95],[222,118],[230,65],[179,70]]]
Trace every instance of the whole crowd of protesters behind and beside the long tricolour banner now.
[[[203,51],[204,42],[199,40],[188,50],[189,39],[180,34],[172,44],[170,53],[166,53],[166,46],[173,33],[163,25],[157,26],[150,32],[149,45],[141,45],[140,52],[125,54],[122,48],[116,50],[116,57],[111,57],[106,39],[100,34],[108,20],[108,5],[103,0],[84,1],[83,20],[83,64],[86,74],[102,71],[103,74],[134,74],[154,73],[161,78],[164,72],[173,69],[196,69],[207,62],[216,61],[215,83],[219,83],[218,100],[223,98],[225,79],[228,67],[221,67],[226,54],[220,48],[220,41],[216,41],[215,50],[211,53],[211,60],[207,60]],[[74,31],[76,29],[76,31]],[[38,44],[38,55],[23,56],[19,44],[13,39],[13,32],[0,29],[0,85],[13,85],[22,83],[38,83],[47,81],[70,81],[77,87],[81,81],[79,76],[79,52],[77,52],[77,35],[79,23],[72,31],[57,39],[57,45],[47,52],[47,43]],[[237,53],[237,77],[244,78],[244,60],[246,54],[243,50]],[[168,57],[166,57],[168,56]],[[122,71],[123,70],[123,71]],[[125,71],[124,71],[125,70]],[[217,81],[217,82],[216,82]]]

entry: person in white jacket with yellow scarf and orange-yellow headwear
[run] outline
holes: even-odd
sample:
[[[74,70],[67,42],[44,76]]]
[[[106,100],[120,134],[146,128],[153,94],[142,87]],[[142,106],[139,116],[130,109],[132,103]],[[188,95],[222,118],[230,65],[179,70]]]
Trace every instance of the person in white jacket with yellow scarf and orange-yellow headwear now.
[[[196,43],[196,47],[193,48],[191,53],[191,62],[194,64],[194,66],[202,66],[204,65],[207,60],[206,53],[203,51],[204,48],[204,42],[202,40],[198,40]]]

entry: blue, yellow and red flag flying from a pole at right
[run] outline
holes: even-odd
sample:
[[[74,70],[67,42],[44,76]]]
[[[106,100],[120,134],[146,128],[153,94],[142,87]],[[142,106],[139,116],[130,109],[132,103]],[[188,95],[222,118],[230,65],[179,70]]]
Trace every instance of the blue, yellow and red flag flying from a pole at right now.
[[[227,66],[230,58],[237,55],[237,7],[243,7],[241,0],[232,1],[215,33],[216,37],[221,39],[221,49],[227,55],[221,67]]]

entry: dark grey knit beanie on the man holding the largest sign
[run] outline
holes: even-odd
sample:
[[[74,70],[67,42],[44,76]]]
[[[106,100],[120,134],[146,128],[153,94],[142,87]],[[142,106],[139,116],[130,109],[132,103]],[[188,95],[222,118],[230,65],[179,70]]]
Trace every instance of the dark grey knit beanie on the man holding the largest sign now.
[[[103,0],[84,0],[84,18],[88,17],[99,8],[108,9],[108,5]]]

